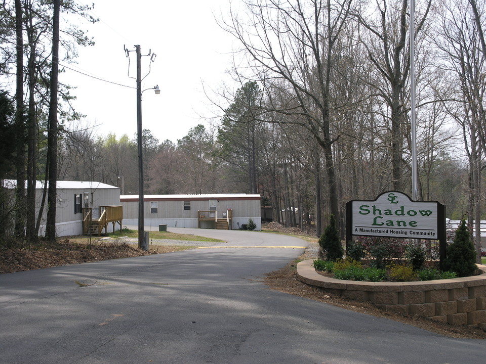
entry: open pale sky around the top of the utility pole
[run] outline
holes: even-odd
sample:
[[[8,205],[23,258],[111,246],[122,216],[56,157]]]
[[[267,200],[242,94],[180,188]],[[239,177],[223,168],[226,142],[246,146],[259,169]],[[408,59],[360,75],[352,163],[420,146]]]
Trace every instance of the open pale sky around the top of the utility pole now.
[[[59,77],[60,82],[77,87],[72,91],[77,97],[73,105],[86,118],[76,126],[98,125],[99,135],[112,132],[118,138],[123,134],[134,138],[136,81],[129,75],[136,77],[136,54],[130,52],[127,58],[124,45],[135,51],[135,44],[140,44],[142,56],[149,51],[156,54],[142,89],[156,84],[161,89],[160,95],[151,89],[143,93],[142,127],[160,142],[176,142],[191,127],[205,124],[200,115],[214,113],[207,107],[203,84],[217,88],[231,83],[226,71],[231,68],[234,40],[215,21],[221,11],[227,14],[228,4],[229,0],[95,0],[92,15],[100,21],[79,27],[87,29],[96,44],[79,48],[77,65],[69,66],[82,73],[66,69]],[[142,57],[142,77],[149,63],[150,57]]]

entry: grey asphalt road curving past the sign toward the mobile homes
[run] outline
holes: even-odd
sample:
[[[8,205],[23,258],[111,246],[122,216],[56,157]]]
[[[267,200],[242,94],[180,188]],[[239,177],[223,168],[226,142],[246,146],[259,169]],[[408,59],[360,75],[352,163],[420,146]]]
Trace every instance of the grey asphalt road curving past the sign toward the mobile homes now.
[[[304,250],[278,247],[300,239],[170,230],[227,243],[0,275],[0,363],[486,361],[482,340],[267,289],[261,277]]]

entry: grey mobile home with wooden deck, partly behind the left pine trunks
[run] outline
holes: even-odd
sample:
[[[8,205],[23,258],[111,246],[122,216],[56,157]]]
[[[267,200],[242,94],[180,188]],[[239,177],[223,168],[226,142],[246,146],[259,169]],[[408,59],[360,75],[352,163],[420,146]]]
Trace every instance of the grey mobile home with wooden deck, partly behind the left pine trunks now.
[[[4,180],[3,182],[5,188],[15,189],[15,180]],[[43,189],[43,181],[37,181],[35,216],[38,216],[39,213]],[[120,189],[118,187],[94,181],[57,181],[56,235],[87,234],[87,229],[91,229],[92,224],[97,225],[97,229],[94,227],[92,231],[96,235],[99,235],[103,228],[105,232],[112,232],[116,229],[115,221],[119,221],[119,228],[121,228],[123,212],[119,205]],[[46,210],[47,201],[43,210],[39,235],[45,234]],[[114,214],[113,211],[116,213]],[[112,222],[112,224],[108,222]]]

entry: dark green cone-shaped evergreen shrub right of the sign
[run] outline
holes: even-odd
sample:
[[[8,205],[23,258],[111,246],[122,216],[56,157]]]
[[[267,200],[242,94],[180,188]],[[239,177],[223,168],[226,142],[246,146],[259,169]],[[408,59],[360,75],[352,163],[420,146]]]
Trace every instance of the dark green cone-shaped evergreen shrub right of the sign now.
[[[476,250],[469,239],[466,221],[456,230],[454,242],[447,248],[444,270],[455,271],[459,277],[467,277],[476,271]]]

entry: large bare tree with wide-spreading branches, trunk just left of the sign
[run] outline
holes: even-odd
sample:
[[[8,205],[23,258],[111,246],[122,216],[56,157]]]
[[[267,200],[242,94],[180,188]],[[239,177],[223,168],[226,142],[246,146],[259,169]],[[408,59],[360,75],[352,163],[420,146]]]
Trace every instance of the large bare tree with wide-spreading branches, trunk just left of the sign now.
[[[282,122],[307,128],[322,149],[329,209],[340,221],[331,134],[330,98],[333,49],[349,20],[352,0],[246,2],[247,22],[235,13],[224,24],[242,45],[252,74],[264,87],[268,111],[300,117]],[[274,100],[275,84],[289,96]]]

